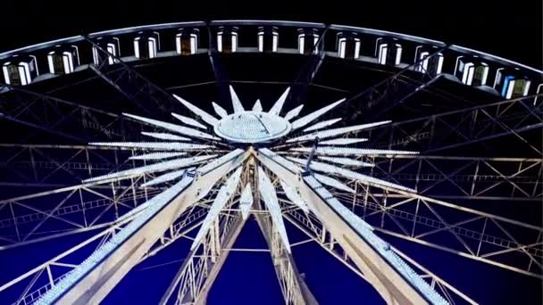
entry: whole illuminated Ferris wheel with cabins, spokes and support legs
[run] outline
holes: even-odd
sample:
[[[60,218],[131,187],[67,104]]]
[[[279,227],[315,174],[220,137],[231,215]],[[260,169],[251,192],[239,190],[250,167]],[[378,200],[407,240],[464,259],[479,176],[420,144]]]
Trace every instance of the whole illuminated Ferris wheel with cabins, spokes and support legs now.
[[[284,302],[317,304],[308,243],[389,304],[478,303],[426,256],[543,278],[540,70],[294,21],[115,29],[0,61],[6,303],[107,301],[181,243],[161,304],[205,304],[234,251],[269,253]],[[265,249],[236,246],[250,223]]]

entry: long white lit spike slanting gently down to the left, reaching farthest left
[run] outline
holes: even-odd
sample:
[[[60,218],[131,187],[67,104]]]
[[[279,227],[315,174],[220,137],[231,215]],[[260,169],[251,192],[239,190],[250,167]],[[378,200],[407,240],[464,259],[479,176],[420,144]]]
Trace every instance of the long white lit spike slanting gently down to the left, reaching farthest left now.
[[[180,159],[174,159],[171,161],[162,161],[151,165],[145,165],[134,169],[126,169],[114,172],[112,174],[102,175],[98,177],[91,177],[88,179],[83,180],[83,182],[94,182],[94,181],[100,181],[105,179],[125,179],[128,178],[128,176],[139,176],[146,173],[151,172],[157,172],[157,171],[165,171],[169,169],[181,169],[186,168],[190,165],[194,165],[197,163],[201,163],[203,161],[207,161],[210,159],[215,158],[217,155],[212,154],[208,156],[196,156],[196,157],[188,157],[188,158],[180,158]]]

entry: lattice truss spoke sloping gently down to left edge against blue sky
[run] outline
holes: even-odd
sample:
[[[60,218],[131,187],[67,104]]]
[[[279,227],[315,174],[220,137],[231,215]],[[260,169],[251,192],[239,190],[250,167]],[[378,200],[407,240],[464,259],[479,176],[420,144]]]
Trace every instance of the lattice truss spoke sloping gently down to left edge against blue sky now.
[[[139,187],[142,178],[133,178],[129,185],[88,183],[0,201],[0,236],[4,241],[0,251],[103,226],[111,221],[102,217],[112,208],[115,221],[162,192],[160,188]],[[55,229],[38,230],[48,226]]]

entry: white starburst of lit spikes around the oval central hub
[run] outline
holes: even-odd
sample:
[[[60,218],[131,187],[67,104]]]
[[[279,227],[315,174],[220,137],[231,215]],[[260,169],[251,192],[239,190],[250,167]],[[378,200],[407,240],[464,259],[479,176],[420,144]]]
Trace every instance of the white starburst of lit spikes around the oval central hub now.
[[[151,162],[151,164],[117,171],[100,177],[92,177],[84,182],[121,180],[144,174],[155,174],[154,179],[146,181],[142,186],[174,183],[183,177],[183,174],[189,169],[209,164],[228,152],[239,149],[266,148],[286,157],[299,169],[311,169],[314,171],[313,177],[322,185],[340,191],[355,192],[336,177],[356,180],[366,185],[414,192],[413,189],[403,185],[390,183],[355,171],[358,168],[373,166],[371,162],[363,161],[364,157],[417,153],[352,146],[353,144],[363,143],[367,139],[351,135],[367,128],[388,124],[390,121],[334,128],[334,125],[342,120],[341,118],[319,120],[339,104],[344,103],[345,99],[330,103],[302,117],[299,116],[304,105],[299,105],[281,116],[289,90],[290,88],[287,88],[280,95],[280,98],[269,111],[263,111],[260,100],[255,102],[251,110],[245,110],[234,88],[230,86],[230,96],[234,110],[230,114],[221,105],[212,102],[216,114],[214,116],[178,95],[173,96],[185,105],[189,111],[192,111],[196,120],[178,113],[171,113],[172,117],[175,118],[175,123],[172,123],[124,113],[125,116],[133,120],[162,129],[161,132],[142,132],[144,136],[148,136],[155,141],[91,144],[141,150],[141,154],[132,156],[129,159],[145,161],[146,164]],[[308,162],[310,155],[313,155],[313,159]],[[230,197],[235,194],[244,166],[245,163],[240,163],[238,169],[234,170],[233,174],[221,185],[205,218],[204,225],[196,235],[192,246],[193,249],[202,241],[202,238],[212,226],[214,219],[219,216]],[[255,181],[255,185],[258,185],[258,189],[255,191],[261,194],[261,198],[272,215],[272,221],[277,227],[286,249],[290,251],[288,236],[280,213],[276,186],[272,184],[271,178],[261,167],[258,167],[258,181]],[[243,192],[239,197],[239,209],[242,216],[246,218],[254,201],[253,190],[250,182],[241,186],[243,186]],[[298,208],[308,211],[307,205],[297,194],[297,190],[289,187],[284,181],[280,181],[280,188],[290,202]]]

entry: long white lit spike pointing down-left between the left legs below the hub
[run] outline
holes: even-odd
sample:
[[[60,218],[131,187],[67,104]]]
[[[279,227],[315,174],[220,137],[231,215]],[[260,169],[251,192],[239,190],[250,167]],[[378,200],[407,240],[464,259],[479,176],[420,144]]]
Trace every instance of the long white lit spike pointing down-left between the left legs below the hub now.
[[[210,227],[213,226],[213,222],[219,216],[221,210],[229,201],[230,197],[234,194],[234,191],[236,191],[236,188],[239,184],[239,177],[241,177],[241,169],[243,168],[239,167],[238,169],[236,169],[232,176],[230,176],[228,180],[226,180],[226,183],[221,186],[219,194],[217,194],[217,197],[215,197],[211,208],[207,212],[207,216],[205,216],[202,227],[200,227],[198,234],[196,235],[194,241],[192,242],[192,245],[190,246],[191,251],[195,250],[196,247],[200,244],[202,238],[204,238],[204,236],[207,234],[207,231],[209,231]]]

